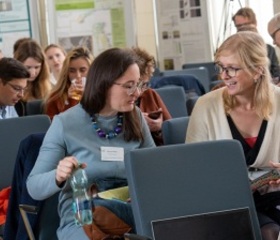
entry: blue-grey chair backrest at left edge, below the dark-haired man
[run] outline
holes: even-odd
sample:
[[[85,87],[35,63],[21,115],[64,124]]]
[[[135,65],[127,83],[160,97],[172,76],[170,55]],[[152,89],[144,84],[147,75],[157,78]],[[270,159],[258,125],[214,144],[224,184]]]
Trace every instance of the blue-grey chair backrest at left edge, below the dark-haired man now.
[[[0,189],[12,182],[18,147],[31,133],[46,132],[51,124],[47,115],[34,115],[0,120]]]

